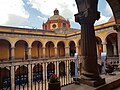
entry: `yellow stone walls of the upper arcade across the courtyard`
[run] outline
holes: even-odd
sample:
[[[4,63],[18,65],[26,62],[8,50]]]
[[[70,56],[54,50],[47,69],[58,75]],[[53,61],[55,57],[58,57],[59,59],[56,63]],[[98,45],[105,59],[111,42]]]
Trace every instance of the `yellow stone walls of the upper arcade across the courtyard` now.
[[[107,24],[104,24],[104,25],[99,25],[99,26],[96,26],[95,28],[96,29],[100,29],[102,28],[102,26],[104,27],[107,27],[107,25],[114,25],[115,22],[112,22],[112,23],[107,23]],[[15,58],[24,58],[25,57],[25,46],[24,46],[24,43],[17,43],[16,45],[16,42],[19,41],[19,40],[23,40],[25,41],[28,46],[27,47],[31,47],[31,57],[38,57],[38,50],[37,50],[37,44],[34,44],[32,46],[32,43],[34,41],[39,41],[42,43],[42,46],[40,46],[40,50],[39,50],[39,56],[40,57],[43,57],[43,48],[41,47],[46,47],[46,43],[49,42],[49,41],[52,41],[54,45],[51,45],[50,47],[50,51],[48,51],[48,48],[46,47],[46,52],[45,52],[45,56],[49,56],[49,52],[50,52],[50,56],[53,57],[55,56],[55,48],[58,44],[58,42],[60,41],[63,41],[64,44],[65,44],[65,47],[64,48],[60,48],[60,55],[65,55],[65,48],[66,47],[69,47],[69,42],[70,41],[74,41],[75,43],[75,47],[78,46],[78,54],[81,55],[81,48],[80,46],[78,45],[78,41],[80,40],[80,31],[76,32],[76,33],[70,33],[70,34],[55,34],[55,33],[52,33],[52,32],[40,32],[40,31],[33,31],[33,30],[27,30],[27,29],[11,29],[11,28],[0,28],[0,32],[15,32],[15,33],[24,33],[24,34],[27,34],[26,37],[19,37],[19,36],[0,36],[0,39],[4,39],[4,40],[7,40],[10,44],[11,44],[11,47],[14,47],[15,48]],[[97,31],[96,31],[97,32]],[[105,37],[107,35],[109,35],[110,33],[117,33],[115,32],[115,30],[106,30],[106,31],[99,31],[99,33],[96,33],[96,36],[98,36],[101,41],[103,42]],[[34,35],[46,35],[46,37],[32,37],[30,36],[29,34],[34,34]],[[49,36],[54,36],[54,38],[52,37],[49,37]],[[58,38],[58,37],[55,37],[55,36],[61,36],[61,37],[64,37],[64,36],[69,36],[68,38]],[[0,52],[0,59],[9,59],[9,44],[6,43],[6,42],[0,42],[0,50],[2,52]],[[97,47],[97,50],[98,50],[98,47]],[[58,51],[57,51],[58,52]]]

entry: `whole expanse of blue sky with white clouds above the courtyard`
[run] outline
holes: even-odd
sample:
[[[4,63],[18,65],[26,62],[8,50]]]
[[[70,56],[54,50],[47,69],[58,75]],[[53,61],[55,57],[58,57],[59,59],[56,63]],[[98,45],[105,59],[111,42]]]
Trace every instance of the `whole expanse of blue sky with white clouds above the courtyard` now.
[[[75,0],[0,0],[0,26],[42,29],[42,23],[53,16],[55,8],[70,21],[71,28],[80,28],[74,20],[78,13]],[[106,23],[113,16],[106,0],[99,0],[98,11],[101,18],[95,25]]]

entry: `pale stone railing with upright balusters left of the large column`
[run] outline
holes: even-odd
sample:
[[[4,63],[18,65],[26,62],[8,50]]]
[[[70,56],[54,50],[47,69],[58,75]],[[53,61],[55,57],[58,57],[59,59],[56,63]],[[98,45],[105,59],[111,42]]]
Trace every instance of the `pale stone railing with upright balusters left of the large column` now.
[[[48,90],[52,73],[59,77],[61,86],[65,86],[73,83],[74,69],[74,58],[2,61],[0,90]]]

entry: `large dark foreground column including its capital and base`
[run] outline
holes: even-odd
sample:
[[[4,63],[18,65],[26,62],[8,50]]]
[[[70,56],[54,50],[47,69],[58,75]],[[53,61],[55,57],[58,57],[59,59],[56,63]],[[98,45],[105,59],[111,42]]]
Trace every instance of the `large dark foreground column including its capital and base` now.
[[[97,1],[94,0],[91,1],[91,3],[89,2],[86,3],[90,5],[92,4],[91,8],[93,8],[95,2]],[[83,8],[82,6],[84,6],[83,5],[84,3],[81,4],[79,2],[77,4],[79,4],[79,7],[81,7],[80,9],[82,9]],[[94,8],[93,9],[91,8],[86,9],[84,12],[79,11],[79,13],[75,15],[75,21],[81,24],[81,55],[82,55],[81,83],[96,87],[104,84],[105,79],[102,79],[99,76],[98,72],[96,37],[94,30],[95,20],[99,19],[100,13],[97,12]]]

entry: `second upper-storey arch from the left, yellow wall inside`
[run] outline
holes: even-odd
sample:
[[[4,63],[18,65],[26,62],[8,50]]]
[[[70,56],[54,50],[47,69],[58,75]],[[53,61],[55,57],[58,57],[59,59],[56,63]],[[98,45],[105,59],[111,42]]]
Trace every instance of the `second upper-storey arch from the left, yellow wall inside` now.
[[[28,59],[28,43],[24,40],[19,40],[15,43],[15,58]]]

